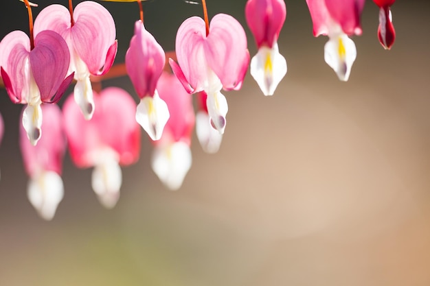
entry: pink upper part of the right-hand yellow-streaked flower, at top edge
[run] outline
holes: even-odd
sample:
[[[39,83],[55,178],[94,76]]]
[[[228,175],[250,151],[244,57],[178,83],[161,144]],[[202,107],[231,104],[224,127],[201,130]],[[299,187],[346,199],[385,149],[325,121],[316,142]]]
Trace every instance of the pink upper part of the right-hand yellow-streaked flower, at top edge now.
[[[360,16],[365,0],[325,0],[331,18],[347,35],[361,35]]]

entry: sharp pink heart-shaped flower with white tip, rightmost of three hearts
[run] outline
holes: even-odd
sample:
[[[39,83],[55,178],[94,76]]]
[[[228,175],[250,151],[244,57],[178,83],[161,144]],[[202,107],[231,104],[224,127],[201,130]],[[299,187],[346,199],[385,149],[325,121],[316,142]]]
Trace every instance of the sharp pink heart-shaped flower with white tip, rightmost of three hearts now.
[[[240,23],[227,14],[217,14],[209,29],[193,16],[178,29],[176,55],[170,67],[188,93],[207,93],[207,110],[220,134],[225,130],[228,106],[221,88],[238,90],[248,69],[247,37]]]

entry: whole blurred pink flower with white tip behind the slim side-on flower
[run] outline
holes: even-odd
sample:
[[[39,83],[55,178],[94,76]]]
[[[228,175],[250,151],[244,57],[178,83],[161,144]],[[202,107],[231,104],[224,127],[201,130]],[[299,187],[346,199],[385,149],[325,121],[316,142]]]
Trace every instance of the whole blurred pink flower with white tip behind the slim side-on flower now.
[[[161,74],[157,90],[168,105],[170,118],[161,139],[154,141],[151,165],[166,187],[177,190],[192,164],[190,145],[195,121],[192,97],[181,82],[167,72]]]

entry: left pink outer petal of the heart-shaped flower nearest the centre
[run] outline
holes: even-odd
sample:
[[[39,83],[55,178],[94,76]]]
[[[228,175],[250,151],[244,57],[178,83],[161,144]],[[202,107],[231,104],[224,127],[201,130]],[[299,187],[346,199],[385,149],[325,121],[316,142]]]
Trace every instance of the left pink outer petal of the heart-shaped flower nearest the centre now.
[[[203,91],[208,73],[203,48],[206,38],[205,31],[205,21],[200,17],[192,16],[183,21],[176,36],[175,49],[179,67],[181,67],[183,76],[187,79],[191,88],[187,88],[185,84],[183,85],[187,91],[192,90],[194,93]],[[223,44],[220,43],[220,45]],[[181,80],[182,77],[178,78]]]

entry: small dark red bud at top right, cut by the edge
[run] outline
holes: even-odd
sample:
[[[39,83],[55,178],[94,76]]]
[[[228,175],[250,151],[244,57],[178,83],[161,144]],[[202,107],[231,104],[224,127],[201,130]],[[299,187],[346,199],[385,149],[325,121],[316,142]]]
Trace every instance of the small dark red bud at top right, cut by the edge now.
[[[379,43],[381,43],[385,49],[391,49],[394,44],[394,40],[396,40],[396,31],[394,30],[393,17],[389,7],[393,5],[396,0],[373,1],[379,6]]]

